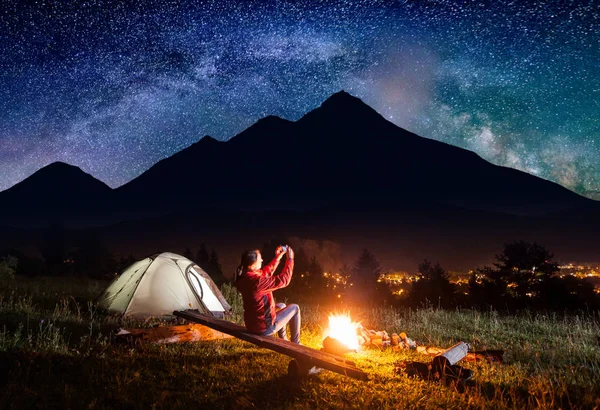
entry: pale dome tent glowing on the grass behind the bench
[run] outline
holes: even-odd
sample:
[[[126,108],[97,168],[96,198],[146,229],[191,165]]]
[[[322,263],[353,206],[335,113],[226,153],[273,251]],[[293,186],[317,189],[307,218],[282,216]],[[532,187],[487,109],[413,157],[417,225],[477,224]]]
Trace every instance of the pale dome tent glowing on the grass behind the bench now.
[[[231,307],[210,276],[191,260],[170,252],[135,262],[98,298],[100,308],[125,317],[170,317],[198,309],[223,318]]]

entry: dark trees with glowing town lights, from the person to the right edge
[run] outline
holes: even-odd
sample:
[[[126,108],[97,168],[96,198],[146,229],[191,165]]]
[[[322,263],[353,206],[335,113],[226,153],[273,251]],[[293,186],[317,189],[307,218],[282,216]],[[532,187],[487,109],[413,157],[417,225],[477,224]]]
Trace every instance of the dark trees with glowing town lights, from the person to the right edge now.
[[[273,244],[265,251],[272,251]],[[469,308],[502,311],[596,310],[600,295],[586,278],[561,275],[554,255],[544,246],[525,241],[507,243],[495,255],[492,266],[474,270],[466,286],[451,281],[439,264],[424,260],[418,272],[403,285],[401,295],[394,294],[385,282],[375,255],[365,249],[350,266],[336,275],[324,275],[316,258],[296,252],[294,280],[278,293],[290,299],[327,303],[340,299],[345,303],[396,305],[442,309]],[[341,284],[340,284],[341,282]]]

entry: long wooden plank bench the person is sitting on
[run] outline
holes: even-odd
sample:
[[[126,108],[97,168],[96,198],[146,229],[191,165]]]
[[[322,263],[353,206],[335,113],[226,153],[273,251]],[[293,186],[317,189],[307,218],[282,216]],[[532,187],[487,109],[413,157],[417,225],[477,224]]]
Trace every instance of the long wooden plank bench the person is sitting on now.
[[[341,356],[315,350],[307,346],[301,346],[288,340],[255,335],[248,332],[244,326],[195,311],[176,310],[173,314],[191,322],[200,323],[220,332],[235,336],[238,339],[253,343],[259,347],[293,357],[302,362],[305,366],[316,366],[355,379],[367,380],[367,374],[365,372],[356,367],[350,360],[346,360]]]

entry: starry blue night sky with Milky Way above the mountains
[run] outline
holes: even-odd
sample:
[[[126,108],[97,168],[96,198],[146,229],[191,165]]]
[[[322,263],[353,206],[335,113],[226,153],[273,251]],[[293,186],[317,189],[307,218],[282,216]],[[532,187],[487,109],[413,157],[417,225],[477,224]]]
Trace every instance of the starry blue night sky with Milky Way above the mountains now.
[[[117,187],[344,89],[600,199],[595,0],[26,3],[0,6],[0,190],[54,161]]]

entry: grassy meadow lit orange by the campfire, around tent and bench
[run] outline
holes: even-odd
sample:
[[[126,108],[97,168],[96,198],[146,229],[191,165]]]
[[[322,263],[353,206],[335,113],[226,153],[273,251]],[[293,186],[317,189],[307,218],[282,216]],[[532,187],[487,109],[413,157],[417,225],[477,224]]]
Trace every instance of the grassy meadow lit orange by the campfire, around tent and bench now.
[[[107,282],[20,278],[0,282],[0,408],[600,408],[600,313],[346,309],[369,329],[406,332],[423,345],[458,341],[503,349],[505,362],[462,363],[464,384],[409,378],[414,350],[348,354],[363,382],[323,371],[287,377],[290,358],[237,339],[187,344],[118,342],[119,321],[92,300]],[[240,299],[224,294],[241,321]],[[302,343],[319,349],[325,306],[301,305]]]

